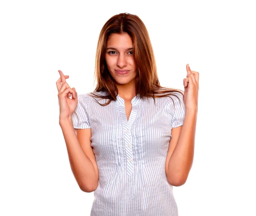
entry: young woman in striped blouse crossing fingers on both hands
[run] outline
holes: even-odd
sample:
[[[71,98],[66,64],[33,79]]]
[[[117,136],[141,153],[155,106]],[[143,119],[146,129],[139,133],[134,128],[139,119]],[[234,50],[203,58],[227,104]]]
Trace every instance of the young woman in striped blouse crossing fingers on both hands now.
[[[94,92],[77,95],[59,71],[59,124],[79,187],[94,191],[90,216],[178,215],[172,187],[192,167],[198,110],[199,73],[186,71],[184,93],[160,86],[148,31],[128,13],[100,32]]]

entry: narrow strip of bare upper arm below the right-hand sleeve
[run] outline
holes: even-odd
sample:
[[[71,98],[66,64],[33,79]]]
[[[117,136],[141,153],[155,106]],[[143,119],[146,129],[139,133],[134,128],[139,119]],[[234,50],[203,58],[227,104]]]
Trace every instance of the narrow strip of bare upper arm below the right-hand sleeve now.
[[[175,147],[177,146],[177,142],[178,142],[179,137],[180,137],[181,128],[182,128],[182,126],[172,128],[172,138],[169,142],[169,149],[168,149],[168,153],[167,153],[167,156],[166,156],[166,167],[165,167],[166,176],[167,176],[167,173],[168,173],[170,158],[172,156],[173,151],[175,150]]]

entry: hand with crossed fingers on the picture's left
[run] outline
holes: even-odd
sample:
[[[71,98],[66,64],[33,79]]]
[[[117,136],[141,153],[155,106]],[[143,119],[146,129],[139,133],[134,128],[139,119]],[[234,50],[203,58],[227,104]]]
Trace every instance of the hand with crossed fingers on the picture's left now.
[[[58,101],[60,107],[60,119],[71,118],[73,112],[76,111],[78,104],[77,92],[75,88],[70,88],[66,82],[66,78],[69,76],[64,75],[61,70],[58,70],[60,78],[56,82],[58,89]],[[72,95],[72,98],[70,96]]]

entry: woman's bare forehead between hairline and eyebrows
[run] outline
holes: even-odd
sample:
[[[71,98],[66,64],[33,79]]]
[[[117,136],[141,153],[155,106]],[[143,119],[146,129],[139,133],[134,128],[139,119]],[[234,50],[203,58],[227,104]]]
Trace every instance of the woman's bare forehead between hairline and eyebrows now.
[[[130,35],[128,35],[126,32],[123,34],[116,34],[113,33],[108,37],[107,41],[107,48],[113,47],[116,49],[126,49],[133,46],[132,40]]]

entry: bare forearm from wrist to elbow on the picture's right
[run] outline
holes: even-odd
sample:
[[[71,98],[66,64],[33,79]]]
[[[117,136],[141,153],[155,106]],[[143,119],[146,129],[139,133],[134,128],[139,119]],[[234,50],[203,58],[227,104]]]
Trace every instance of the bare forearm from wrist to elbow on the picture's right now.
[[[192,167],[196,120],[197,110],[187,110],[179,140],[169,160],[168,181],[172,185],[184,184]]]

